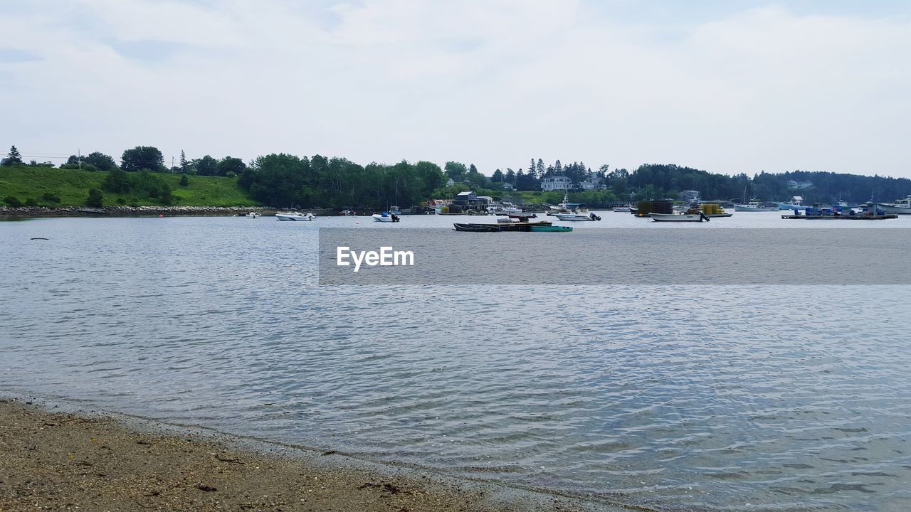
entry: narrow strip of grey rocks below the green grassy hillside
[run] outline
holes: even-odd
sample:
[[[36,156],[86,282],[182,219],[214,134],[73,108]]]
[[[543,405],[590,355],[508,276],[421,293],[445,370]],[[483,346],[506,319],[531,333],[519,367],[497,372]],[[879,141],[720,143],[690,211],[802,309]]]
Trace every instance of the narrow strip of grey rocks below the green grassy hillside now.
[[[254,206],[107,206],[88,207],[0,207],[0,217],[159,217],[159,216],[234,216],[256,211],[274,215],[275,209]]]

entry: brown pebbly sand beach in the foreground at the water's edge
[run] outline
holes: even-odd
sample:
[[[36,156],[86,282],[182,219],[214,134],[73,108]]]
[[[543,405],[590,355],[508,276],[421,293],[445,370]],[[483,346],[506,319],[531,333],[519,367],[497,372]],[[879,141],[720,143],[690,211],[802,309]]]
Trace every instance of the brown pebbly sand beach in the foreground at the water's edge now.
[[[0,398],[0,449],[3,512],[628,509],[22,398]]]

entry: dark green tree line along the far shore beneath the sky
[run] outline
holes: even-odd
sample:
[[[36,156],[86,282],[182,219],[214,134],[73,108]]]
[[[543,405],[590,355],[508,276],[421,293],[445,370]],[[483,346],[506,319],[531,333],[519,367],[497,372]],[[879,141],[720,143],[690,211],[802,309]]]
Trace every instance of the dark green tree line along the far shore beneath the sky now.
[[[26,164],[18,150],[10,149],[3,165],[53,167],[49,162],[32,160]],[[545,165],[542,159],[530,159],[526,168],[495,169],[490,176],[474,164],[449,161],[441,169],[428,161],[395,164],[370,163],[366,166],[343,158],[321,155],[298,157],[273,153],[245,163],[226,156],[215,159],[206,155],[186,159],[180,153],[179,165],[168,168],[158,148],[139,146],[127,149],[119,165],[110,156],[93,152],[73,155],[61,169],[83,169],[107,172],[104,188],[112,192],[145,190],[145,195],[160,197],[168,203],[169,187],[149,176],[170,172],[187,176],[222,176],[236,179],[254,200],[278,208],[403,208],[431,199],[451,199],[460,191],[475,190],[478,195],[500,199],[522,192],[540,190],[541,179],[566,176],[572,182],[571,200],[599,206],[614,202],[650,199],[677,199],[681,190],[698,190],[703,200],[789,200],[794,195],[805,203],[828,203],[836,200],[861,202],[891,201],[911,195],[911,179],[886,178],[794,170],[780,174],[761,172],[728,176],[712,174],[674,164],[643,164],[638,169],[610,169],[601,165],[592,170],[582,162],[563,165],[557,160]],[[452,184],[449,184],[449,180]],[[582,191],[582,184],[595,189]],[[526,194],[527,195],[527,194]],[[562,192],[537,195],[539,200],[558,200]]]

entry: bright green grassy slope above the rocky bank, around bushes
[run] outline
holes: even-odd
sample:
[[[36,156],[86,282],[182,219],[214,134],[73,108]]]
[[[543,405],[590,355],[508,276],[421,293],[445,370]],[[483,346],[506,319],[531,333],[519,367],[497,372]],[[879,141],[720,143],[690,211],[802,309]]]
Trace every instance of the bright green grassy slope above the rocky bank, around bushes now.
[[[237,185],[236,178],[217,176],[189,176],[189,186],[179,185],[177,174],[156,174],[167,182],[172,189],[176,206],[258,206],[259,201],[252,200],[246,190]],[[107,178],[107,172],[90,170],[51,169],[42,167],[0,167],[0,206],[6,196],[15,196],[26,202],[34,199],[41,206],[57,206],[42,200],[45,193],[60,197],[59,206],[84,206],[88,189],[101,189],[101,182]],[[104,191],[105,206],[118,205],[118,198],[126,204],[140,206],[160,205],[158,199],[141,199],[131,194],[113,194]]]

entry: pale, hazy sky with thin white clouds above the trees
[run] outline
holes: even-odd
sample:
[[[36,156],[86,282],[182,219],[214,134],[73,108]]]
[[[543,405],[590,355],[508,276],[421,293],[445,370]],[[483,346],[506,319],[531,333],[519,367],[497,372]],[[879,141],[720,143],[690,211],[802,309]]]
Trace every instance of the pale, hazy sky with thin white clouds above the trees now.
[[[911,2],[0,0],[0,149],[911,178]]]

